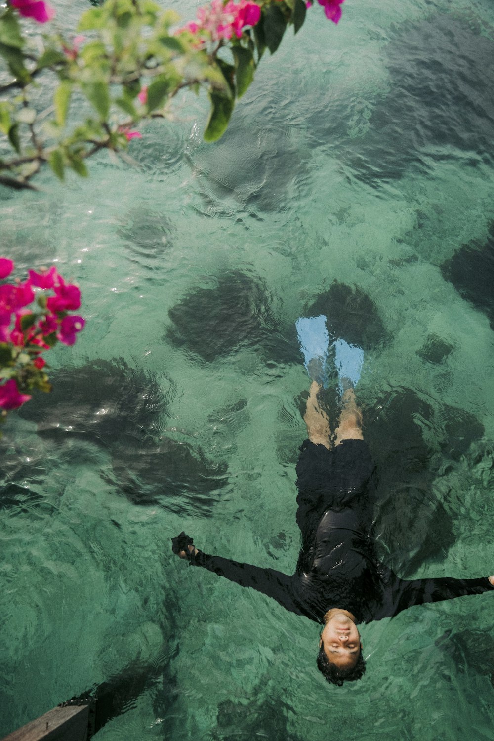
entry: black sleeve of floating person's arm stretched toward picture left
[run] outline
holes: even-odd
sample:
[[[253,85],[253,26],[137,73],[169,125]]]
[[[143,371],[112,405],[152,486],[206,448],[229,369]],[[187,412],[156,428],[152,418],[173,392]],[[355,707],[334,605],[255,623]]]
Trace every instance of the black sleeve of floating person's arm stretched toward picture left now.
[[[190,559],[190,563],[207,568],[208,571],[224,576],[241,587],[250,587],[267,594],[287,610],[301,614],[293,600],[292,577],[282,574],[281,571],[260,568],[250,563],[239,563],[222,556],[209,556],[202,551],[198,551],[196,556]]]

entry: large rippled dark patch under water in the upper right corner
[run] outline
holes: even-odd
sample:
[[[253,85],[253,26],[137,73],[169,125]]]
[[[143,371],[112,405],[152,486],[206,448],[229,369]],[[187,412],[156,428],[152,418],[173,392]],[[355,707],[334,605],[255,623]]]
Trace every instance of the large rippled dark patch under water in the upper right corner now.
[[[375,102],[365,133],[342,136],[353,111],[346,99],[328,98],[310,116],[316,144],[334,141],[338,159],[373,187],[400,179],[410,165],[428,172],[427,157],[455,156],[448,150],[471,153],[472,166],[492,162],[494,41],[450,15],[395,30],[385,49],[390,92]]]

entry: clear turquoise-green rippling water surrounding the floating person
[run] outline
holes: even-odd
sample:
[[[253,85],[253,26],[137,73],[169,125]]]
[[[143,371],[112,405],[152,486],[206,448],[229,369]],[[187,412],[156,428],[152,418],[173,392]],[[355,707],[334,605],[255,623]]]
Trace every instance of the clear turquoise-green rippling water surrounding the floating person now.
[[[381,555],[494,571],[493,59],[490,0],[347,0],[338,27],[314,7],[218,144],[184,100],[136,167],[0,193],[3,253],[56,261],[87,318],[1,443],[1,734],[122,676],[98,738],[492,738],[487,595],[364,626],[367,674],[338,689],[316,624],[170,537],[293,571],[294,322],[322,302],[364,345]]]

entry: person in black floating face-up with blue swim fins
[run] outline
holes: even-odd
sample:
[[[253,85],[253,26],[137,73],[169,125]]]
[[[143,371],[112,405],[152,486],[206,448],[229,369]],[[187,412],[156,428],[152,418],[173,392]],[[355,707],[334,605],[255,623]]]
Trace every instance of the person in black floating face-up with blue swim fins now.
[[[491,591],[494,576],[408,581],[377,558],[374,466],[355,393],[364,353],[342,339],[331,342],[324,316],[298,319],[297,332],[312,384],[304,414],[308,439],[296,466],[301,550],[295,573],[210,556],[183,532],[172,539],[172,548],[191,564],[263,592],[287,610],[323,625],[317,665],[329,682],[341,686],[365,671],[360,623],[394,617],[424,602]],[[318,399],[330,355],[341,395],[334,435]]]

